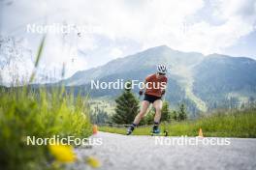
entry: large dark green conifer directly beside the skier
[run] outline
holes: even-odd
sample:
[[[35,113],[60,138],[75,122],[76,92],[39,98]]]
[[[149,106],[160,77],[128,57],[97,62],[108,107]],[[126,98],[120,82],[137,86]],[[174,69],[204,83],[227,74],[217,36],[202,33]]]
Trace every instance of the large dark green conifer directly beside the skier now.
[[[115,113],[112,115],[112,122],[115,124],[131,124],[139,112],[139,99],[131,92],[130,82],[124,92],[115,99]]]

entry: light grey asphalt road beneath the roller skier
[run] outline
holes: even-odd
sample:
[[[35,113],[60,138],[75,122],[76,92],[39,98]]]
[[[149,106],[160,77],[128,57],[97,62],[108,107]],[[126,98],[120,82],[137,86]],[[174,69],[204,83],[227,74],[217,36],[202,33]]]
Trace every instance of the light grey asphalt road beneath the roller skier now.
[[[98,132],[93,138],[101,138],[102,145],[76,152],[79,157],[97,157],[102,163],[98,169],[103,170],[256,169],[256,139],[228,138],[230,145],[224,145],[224,138],[206,138],[222,145],[185,145],[170,142],[180,137],[169,137],[161,139],[164,142],[160,145],[160,138],[156,143],[152,136]],[[76,169],[88,168],[77,166]]]

